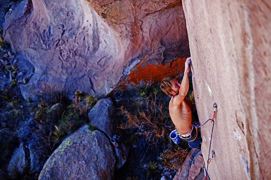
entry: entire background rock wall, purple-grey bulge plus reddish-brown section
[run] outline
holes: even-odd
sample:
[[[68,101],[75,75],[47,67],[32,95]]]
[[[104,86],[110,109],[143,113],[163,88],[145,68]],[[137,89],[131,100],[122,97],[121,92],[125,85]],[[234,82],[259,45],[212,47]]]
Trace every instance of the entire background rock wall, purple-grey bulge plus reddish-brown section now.
[[[180,1],[88,3],[98,14],[85,0],[33,0],[25,26],[14,21],[24,13],[26,0],[7,13],[5,40],[35,67],[30,81],[20,85],[24,98],[45,86],[70,95],[77,89],[106,95],[136,64],[157,66],[190,55]]]

